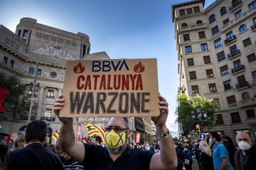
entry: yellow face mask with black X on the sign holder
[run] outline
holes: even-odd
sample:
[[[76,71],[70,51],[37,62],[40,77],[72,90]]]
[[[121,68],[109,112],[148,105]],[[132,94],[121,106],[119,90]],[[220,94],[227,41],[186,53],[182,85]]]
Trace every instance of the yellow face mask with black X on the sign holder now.
[[[117,134],[112,129],[111,132],[105,132],[105,141],[109,148],[121,147],[126,142],[126,133],[121,132]]]

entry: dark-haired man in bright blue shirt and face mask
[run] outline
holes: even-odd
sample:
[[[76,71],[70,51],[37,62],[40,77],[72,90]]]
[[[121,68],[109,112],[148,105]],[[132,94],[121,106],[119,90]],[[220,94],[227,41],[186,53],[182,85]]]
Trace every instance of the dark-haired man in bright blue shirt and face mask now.
[[[213,165],[215,170],[230,169],[228,150],[220,142],[220,135],[211,132],[209,142],[213,145]]]

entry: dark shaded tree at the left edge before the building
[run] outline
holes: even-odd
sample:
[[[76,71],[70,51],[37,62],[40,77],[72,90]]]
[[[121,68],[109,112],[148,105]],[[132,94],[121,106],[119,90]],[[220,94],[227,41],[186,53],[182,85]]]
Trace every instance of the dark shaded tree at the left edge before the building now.
[[[0,113],[0,116],[14,120],[26,119],[30,108],[30,99],[27,97],[26,84],[20,83],[20,80],[15,76],[7,76],[2,72],[0,72],[0,79],[0,87],[8,91],[6,100],[3,103],[7,113]],[[35,107],[33,107],[34,110]],[[32,116],[35,116],[35,113],[32,113]]]

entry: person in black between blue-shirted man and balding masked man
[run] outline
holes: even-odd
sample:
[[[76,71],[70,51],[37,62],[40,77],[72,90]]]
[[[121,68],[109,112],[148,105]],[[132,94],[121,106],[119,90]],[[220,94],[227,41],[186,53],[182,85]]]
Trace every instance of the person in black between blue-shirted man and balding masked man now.
[[[233,166],[234,169],[236,169],[236,165],[234,163],[234,154],[236,153],[237,150],[236,150],[236,147],[234,147],[233,140],[228,136],[224,136],[223,144],[228,150],[230,164]]]

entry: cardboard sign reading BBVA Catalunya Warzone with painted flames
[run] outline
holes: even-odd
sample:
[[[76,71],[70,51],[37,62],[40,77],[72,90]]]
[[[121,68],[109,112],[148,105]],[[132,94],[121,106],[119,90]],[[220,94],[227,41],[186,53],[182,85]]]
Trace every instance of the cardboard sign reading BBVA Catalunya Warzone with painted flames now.
[[[60,116],[158,116],[156,59],[67,61]]]

